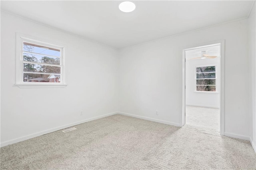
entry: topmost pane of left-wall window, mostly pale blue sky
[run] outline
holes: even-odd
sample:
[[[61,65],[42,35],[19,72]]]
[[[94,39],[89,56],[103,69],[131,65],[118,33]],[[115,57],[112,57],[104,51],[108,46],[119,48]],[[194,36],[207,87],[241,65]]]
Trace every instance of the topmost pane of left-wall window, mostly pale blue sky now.
[[[46,47],[43,45],[37,45],[37,44],[27,43],[27,42],[23,42],[23,51],[46,54],[46,55],[54,55],[54,56],[60,57],[60,49],[55,49],[52,47]]]

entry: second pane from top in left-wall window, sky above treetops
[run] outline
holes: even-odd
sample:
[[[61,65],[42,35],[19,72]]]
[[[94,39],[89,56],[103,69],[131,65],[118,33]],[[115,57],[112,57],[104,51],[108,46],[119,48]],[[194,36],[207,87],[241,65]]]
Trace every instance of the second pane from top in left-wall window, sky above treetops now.
[[[47,57],[43,55],[36,55],[36,54],[30,54],[30,53],[23,53],[23,61],[34,61],[38,63],[60,65],[60,58]]]

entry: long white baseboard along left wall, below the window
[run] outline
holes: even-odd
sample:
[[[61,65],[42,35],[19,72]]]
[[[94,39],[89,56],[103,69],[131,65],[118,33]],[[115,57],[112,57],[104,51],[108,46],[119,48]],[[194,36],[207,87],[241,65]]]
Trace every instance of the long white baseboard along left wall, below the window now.
[[[26,136],[22,136],[22,137],[19,137],[19,138],[15,138],[15,139],[12,139],[12,140],[7,140],[5,142],[2,142],[0,144],[0,147],[7,146],[9,144],[14,144],[14,143],[17,143],[17,142],[21,142],[23,140],[28,140],[30,138],[41,136],[41,135],[44,135],[44,134],[47,134],[47,133],[55,132],[57,130],[61,130],[61,129],[64,129],[64,128],[68,128],[68,127],[72,127],[72,126],[75,126],[75,125],[79,125],[81,123],[86,123],[86,122],[94,121],[96,119],[100,119],[100,118],[103,118],[103,117],[108,117],[108,116],[111,116],[111,115],[116,115],[117,113],[118,112],[108,113],[106,115],[101,115],[101,116],[93,117],[93,118],[90,118],[90,119],[85,119],[85,120],[82,120],[82,121],[78,121],[78,122],[74,122],[74,123],[69,123],[69,124],[66,124],[66,125],[63,125],[63,126],[59,126],[59,127],[55,127],[55,128],[50,128],[48,130],[44,130],[44,131],[41,131],[41,132],[36,132],[36,133],[29,134],[29,135],[26,135]]]

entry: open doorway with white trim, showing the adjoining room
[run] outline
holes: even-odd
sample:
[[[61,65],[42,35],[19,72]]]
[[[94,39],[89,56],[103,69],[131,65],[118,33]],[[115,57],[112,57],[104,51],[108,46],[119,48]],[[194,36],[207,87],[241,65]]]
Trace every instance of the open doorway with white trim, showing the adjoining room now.
[[[183,50],[182,125],[224,134],[223,46],[224,41]]]

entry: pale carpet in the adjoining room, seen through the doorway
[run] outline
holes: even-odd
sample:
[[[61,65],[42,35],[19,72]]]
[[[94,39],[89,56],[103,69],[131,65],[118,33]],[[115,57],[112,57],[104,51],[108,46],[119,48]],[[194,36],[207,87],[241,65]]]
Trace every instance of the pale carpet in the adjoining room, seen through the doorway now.
[[[186,105],[186,124],[220,132],[220,109]]]

